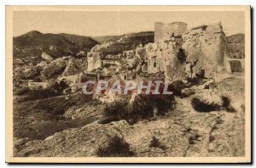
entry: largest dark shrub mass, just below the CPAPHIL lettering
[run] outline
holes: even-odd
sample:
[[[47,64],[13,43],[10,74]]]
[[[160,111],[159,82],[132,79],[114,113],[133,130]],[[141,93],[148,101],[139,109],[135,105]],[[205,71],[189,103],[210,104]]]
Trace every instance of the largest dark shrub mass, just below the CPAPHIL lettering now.
[[[133,103],[117,101],[108,104],[104,109],[104,120],[101,123],[109,123],[113,120],[127,120],[130,123],[137,120],[149,119],[155,115],[164,115],[175,104],[173,95],[137,95]]]

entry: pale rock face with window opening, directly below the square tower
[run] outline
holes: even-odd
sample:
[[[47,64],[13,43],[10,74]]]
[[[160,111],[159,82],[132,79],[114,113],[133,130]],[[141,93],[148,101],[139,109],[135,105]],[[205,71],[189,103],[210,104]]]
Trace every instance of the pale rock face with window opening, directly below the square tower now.
[[[185,77],[185,55],[181,42],[174,37],[148,43],[144,48],[148,55],[148,73],[164,72],[166,80],[177,81]],[[180,57],[179,57],[180,56]]]

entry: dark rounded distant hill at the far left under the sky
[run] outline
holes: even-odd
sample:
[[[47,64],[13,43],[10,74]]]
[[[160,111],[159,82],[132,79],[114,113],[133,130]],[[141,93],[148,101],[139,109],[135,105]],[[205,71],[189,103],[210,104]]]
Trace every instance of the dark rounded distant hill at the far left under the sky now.
[[[15,36],[14,58],[31,59],[40,58],[45,52],[54,59],[65,55],[74,55],[79,51],[89,51],[98,44],[88,36],[69,34],[43,34],[39,31],[30,31],[21,36]]]

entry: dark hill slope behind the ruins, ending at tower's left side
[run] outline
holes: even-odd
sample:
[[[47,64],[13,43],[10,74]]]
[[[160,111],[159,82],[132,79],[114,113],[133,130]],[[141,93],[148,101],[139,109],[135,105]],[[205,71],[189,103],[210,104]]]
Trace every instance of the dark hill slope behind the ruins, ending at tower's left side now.
[[[103,55],[123,53],[125,50],[137,48],[139,44],[145,45],[154,42],[154,31],[143,31],[129,33],[122,36],[114,36],[112,39],[102,44],[96,45],[92,50],[102,51]]]

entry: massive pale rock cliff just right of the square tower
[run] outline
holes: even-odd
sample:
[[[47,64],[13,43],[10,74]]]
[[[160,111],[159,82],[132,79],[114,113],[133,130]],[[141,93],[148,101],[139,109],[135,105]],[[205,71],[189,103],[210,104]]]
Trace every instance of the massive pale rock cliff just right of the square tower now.
[[[227,40],[220,23],[192,28],[182,38],[187,62],[193,66],[193,76],[204,70],[206,77],[212,77],[218,66],[224,66]]]

